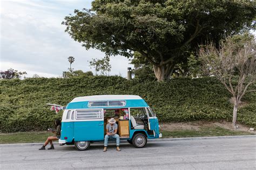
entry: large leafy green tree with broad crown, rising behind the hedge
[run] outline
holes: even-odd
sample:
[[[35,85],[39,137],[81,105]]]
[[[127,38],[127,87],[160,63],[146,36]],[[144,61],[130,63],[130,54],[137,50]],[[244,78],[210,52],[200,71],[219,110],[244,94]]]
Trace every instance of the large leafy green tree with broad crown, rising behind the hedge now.
[[[63,24],[86,49],[128,58],[139,52],[162,81],[198,44],[250,29],[255,13],[250,2],[96,0]]]

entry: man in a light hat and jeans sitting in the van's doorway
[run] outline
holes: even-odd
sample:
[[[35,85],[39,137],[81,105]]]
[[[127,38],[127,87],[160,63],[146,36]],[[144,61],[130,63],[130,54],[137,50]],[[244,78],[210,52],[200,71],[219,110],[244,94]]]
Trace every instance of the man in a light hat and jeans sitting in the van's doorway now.
[[[109,138],[115,138],[117,140],[117,151],[121,151],[119,148],[120,137],[117,134],[117,128],[118,128],[118,125],[116,124],[116,120],[114,120],[114,118],[111,118],[109,120],[109,123],[106,125],[106,135],[104,140],[103,152],[107,151],[107,141],[109,140]]]

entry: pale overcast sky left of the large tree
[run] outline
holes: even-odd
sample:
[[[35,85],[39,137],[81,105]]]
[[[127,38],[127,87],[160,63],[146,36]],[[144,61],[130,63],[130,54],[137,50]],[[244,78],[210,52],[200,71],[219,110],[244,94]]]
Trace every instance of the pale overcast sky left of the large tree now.
[[[68,57],[75,57],[75,70],[93,71],[88,60],[103,58],[104,53],[86,50],[64,32],[64,17],[74,9],[91,8],[90,0],[17,0],[1,2],[1,69],[26,71],[26,77],[62,76],[69,67]],[[111,57],[111,75],[126,77],[129,60]],[[95,73],[93,71],[93,73]]]

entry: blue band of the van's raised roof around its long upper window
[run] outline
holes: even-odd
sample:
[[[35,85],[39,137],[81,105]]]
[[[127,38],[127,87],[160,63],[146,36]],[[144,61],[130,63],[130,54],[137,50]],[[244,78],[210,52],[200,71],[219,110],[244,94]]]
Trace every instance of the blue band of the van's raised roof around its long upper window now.
[[[69,103],[66,106],[66,109],[81,109],[81,108],[126,108],[126,107],[149,107],[147,105],[146,101],[143,99],[133,99],[133,100],[125,100],[126,105],[120,106],[120,107],[88,107],[89,101],[79,101],[79,102],[73,102]]]

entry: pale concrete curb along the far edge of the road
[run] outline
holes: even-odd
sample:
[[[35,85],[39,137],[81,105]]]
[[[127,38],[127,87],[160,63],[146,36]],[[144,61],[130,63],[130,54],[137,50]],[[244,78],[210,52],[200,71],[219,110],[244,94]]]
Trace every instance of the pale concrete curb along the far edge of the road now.
[[[176,140],[201,140],[201,139],[232,139],[232,138],[255,138],[255,134],[250,135],[234,135],[234,136],[218,136],[218,137],[191,137],[191,138],[160,138],[160,139],[149,139],[149,141],[176,141]],[[120,140],[122,142],[122,140]],[[125,141],[126,142],[126,141]],[[123,143],[123,142],[122,142]],[[26,146],[26,145],[43,145],[44,142],[35,142],[35,143],[21,143],[21,144],[0,144],[2,146]],[[58,142],[53,142],[53,144],[58,145]]]

